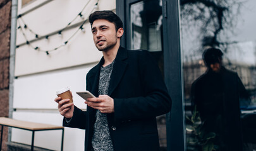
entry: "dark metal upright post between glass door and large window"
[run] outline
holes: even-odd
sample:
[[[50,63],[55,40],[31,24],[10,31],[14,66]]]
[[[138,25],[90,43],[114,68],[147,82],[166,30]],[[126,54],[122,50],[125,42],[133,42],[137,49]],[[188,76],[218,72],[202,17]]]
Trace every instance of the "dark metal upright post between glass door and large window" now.
[[[171,113],[166,121],[168,150],[186,150],[185,110],[183,92],[183,70],[180,47],[179,0],[163,0],[166,5],[166,17],[163,18],[165,51],[164,70],[166,86],[173,100]],[[163,7],[164,8],[164,7]]]

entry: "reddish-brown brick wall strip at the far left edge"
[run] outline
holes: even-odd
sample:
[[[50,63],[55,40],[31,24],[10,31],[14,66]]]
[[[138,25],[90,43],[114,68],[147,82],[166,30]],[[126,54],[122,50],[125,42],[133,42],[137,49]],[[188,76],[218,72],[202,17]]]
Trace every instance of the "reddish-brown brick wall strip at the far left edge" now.
[[[11,35],[11,0],[0,0],[0,116],[9,112],[9,40]],[[0,128],[1,131],[1,128]],[[7,150],[8,128],[3,131],[2,150]]]

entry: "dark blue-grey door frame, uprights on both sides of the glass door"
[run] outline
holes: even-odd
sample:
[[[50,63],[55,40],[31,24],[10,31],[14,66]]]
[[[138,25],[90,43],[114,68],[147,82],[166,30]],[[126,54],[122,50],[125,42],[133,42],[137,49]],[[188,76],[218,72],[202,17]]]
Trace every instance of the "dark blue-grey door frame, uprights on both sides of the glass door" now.
[[[116,0],[116,13],[124,21],[125,35],[121,45],[130,48],[130,5],[143,0]],[[144,0],[147,1],[147,0]],[[171,112],[166,115],[168,150],[186,150],[183,74],[180,48],[179,0],[162,0],[164,81],[172,98]]]

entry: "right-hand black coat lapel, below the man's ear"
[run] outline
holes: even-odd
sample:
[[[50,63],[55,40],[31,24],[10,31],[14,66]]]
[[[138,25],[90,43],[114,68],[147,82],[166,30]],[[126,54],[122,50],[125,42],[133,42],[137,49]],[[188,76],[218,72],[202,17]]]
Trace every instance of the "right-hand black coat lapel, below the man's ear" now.
[[[113,93],[116,86],[118,86],[121,81],[123,74],[125,74],[127,62],[127,50],[125,48],[119,47],[118,54],[116,55],[116,59],[114,61],[114,67],[111,74],[111,79],[109,81],[109,96]]]

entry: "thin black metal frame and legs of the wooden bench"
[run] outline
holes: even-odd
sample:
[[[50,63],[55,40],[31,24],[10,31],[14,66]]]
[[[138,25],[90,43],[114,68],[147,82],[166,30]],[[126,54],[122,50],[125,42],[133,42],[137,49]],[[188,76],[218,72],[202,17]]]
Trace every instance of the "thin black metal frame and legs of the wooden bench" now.
[[[2,124],[0,124],[2,125]],[[32,131],[32,142],[31,142],[31,150],[34,150],[34,140],[35,140],[35,131],[47,131],[47,130],[62,130],[62,136],[61,136],[61,151],[63,151],[63,141],[64,141],[64,128],[52,128],[52,129],[45,129],[45,130],[29,130],[27,128],[19,128],[16,126],[9,126],[9,125],[2,125],[1,128],[1,140],[0,140],[0,150],[2,150],[2,141],[3,141],[3,128],[4,126],[8,126],[8,127],[12,127],[12,128],[18,128],[21,130],[28,130],[28,131]]]

